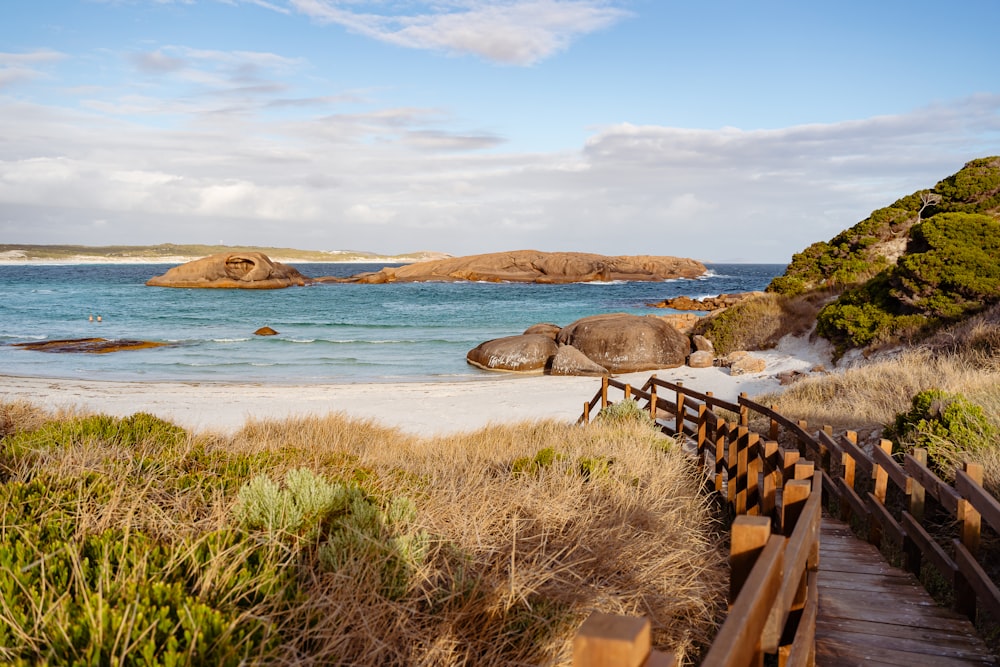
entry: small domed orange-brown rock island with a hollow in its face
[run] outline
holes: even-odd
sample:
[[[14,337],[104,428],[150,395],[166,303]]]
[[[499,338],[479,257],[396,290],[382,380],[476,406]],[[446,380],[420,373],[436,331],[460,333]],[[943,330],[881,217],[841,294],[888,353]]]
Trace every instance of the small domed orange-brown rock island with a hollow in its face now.
[[[153,287],[277,289],[305,285],[309,278],[261,252],[223,252],[175,266],[146,281]]]

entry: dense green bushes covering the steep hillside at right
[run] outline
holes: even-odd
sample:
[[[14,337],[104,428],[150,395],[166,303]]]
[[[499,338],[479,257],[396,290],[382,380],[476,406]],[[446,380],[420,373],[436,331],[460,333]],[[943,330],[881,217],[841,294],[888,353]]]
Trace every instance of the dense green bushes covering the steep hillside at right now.
[[[913,341],[1000,299],[1000,157],[797,253],[767,290],[833,298],[816,331],[843,354]]]

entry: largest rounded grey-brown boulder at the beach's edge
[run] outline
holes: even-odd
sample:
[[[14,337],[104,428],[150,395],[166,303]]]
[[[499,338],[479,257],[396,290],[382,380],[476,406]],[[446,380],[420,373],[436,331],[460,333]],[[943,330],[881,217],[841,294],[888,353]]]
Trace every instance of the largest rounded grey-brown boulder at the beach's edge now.
[[[563,327],[557,342],[612,373],[683,366],[691,349],[687,336],[658,317],[626,313],[584,317]]]

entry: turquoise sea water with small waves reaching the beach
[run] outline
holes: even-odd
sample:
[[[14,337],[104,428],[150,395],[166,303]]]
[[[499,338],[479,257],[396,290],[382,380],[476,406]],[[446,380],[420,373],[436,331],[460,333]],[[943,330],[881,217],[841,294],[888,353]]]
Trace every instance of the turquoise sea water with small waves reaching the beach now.
[[[491,338],[587,315],[663,314],[647,303],[763,289],[775,264],[717,264],[697,280],[573,285],[328,284],[282,290],[147,287],[171,265],[0,266],[0,374],[106,380],[267,383],[493,377],[465,363]],[[384,265],[303,264],[310,276]],[[101,323],[88,318],[97,315]],[[261,337],[262,326],[280,335]],[[11,343],[84,337],[167,347],[53,354]],[[8,380],[0,380],[8,381]]]

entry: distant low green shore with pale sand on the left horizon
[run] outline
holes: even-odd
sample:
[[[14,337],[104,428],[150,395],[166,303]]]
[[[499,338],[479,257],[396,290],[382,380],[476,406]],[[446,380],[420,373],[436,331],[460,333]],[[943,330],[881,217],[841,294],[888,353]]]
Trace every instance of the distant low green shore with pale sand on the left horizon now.
[[[386,255],[356,250],[297,250],[259,246],[177,245],[83,246],[0,244],[0,261],[6,262],[186,262],[221,252],[262,252],[279,262],[420,262],[450,255],[441,252],[411,252]]]

